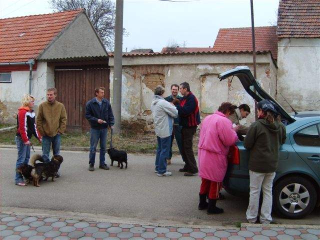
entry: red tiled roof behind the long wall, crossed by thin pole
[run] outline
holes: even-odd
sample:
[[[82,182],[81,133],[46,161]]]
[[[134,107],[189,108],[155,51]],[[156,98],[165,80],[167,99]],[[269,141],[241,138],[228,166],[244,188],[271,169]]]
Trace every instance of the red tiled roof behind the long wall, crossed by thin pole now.
[[[254,27],[255,50],[271,51],[272,57],[277,58],[276,26]],[[220,52],[252,52],[251,27],[220,28],[216,36],[213,51]]]

